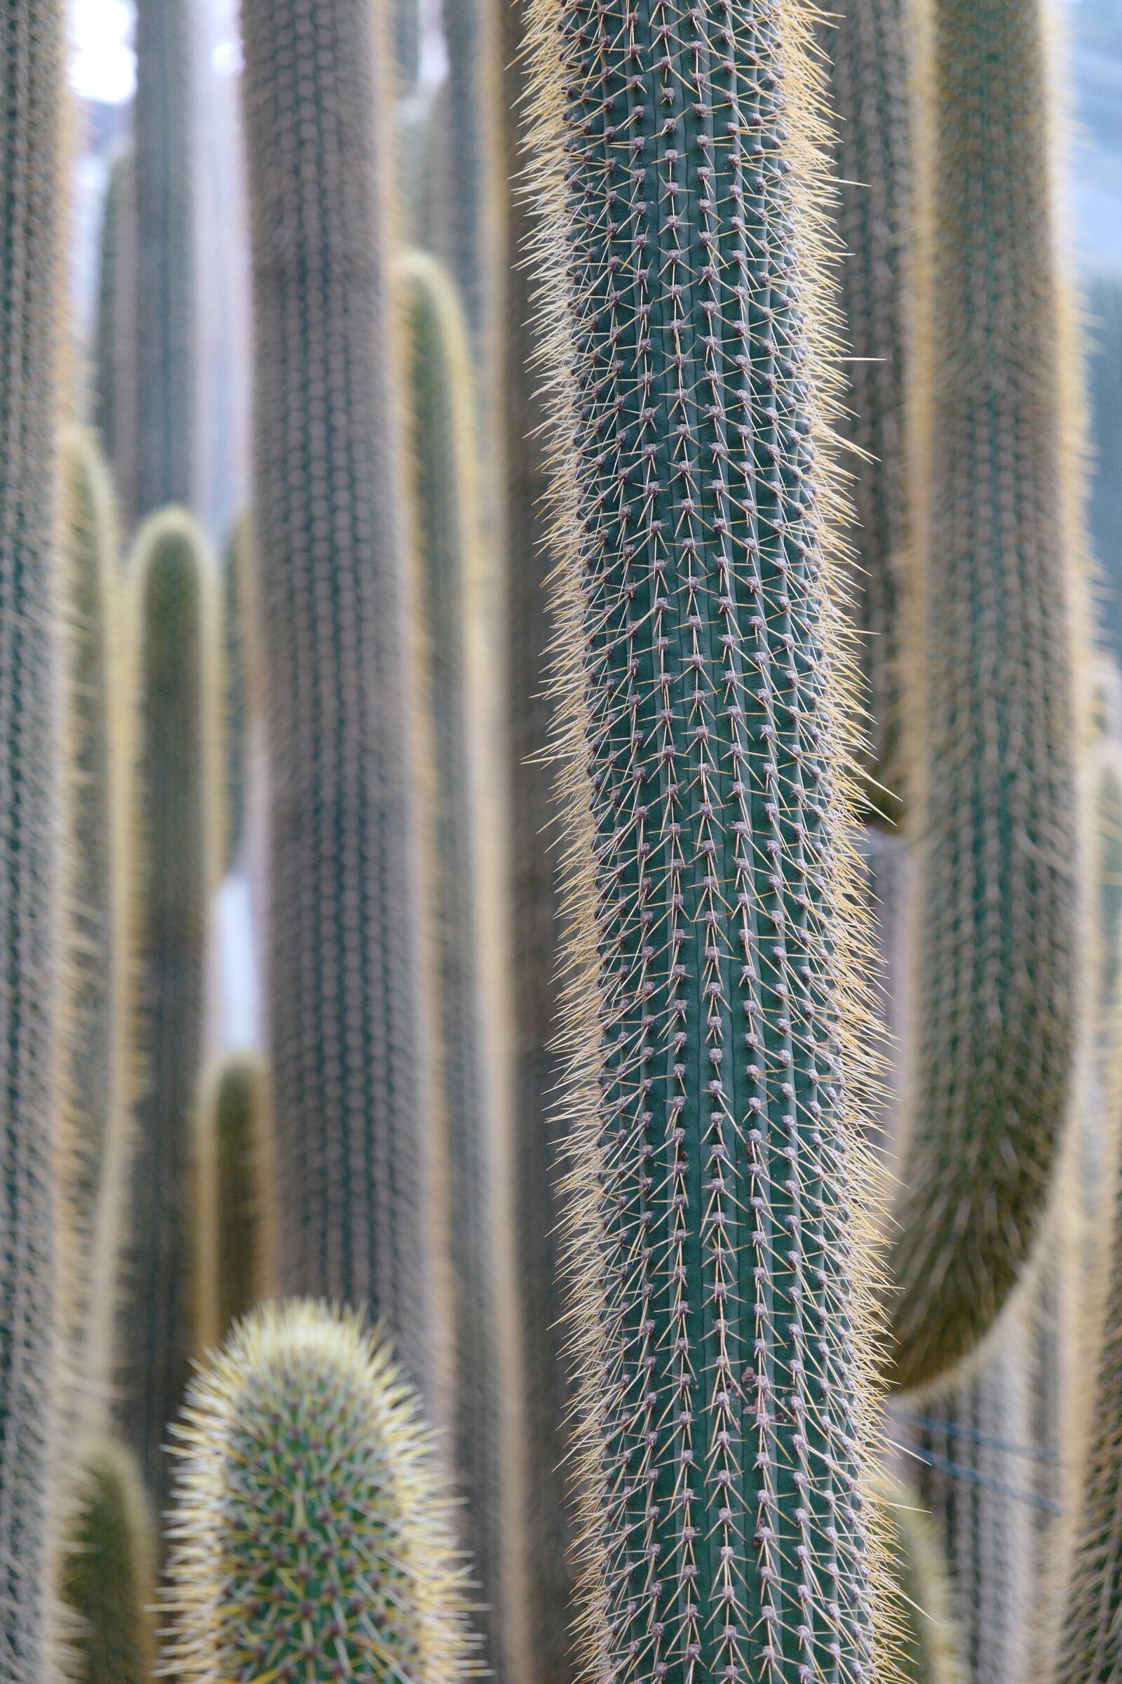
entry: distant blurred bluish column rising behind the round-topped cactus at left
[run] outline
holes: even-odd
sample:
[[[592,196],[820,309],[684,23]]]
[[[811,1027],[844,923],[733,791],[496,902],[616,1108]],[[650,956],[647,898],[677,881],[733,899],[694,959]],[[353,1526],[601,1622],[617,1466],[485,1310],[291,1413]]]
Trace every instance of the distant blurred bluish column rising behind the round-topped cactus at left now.
[[[135,515],[188,504],[195,456],[195,57],[190,0],[136,5]]]

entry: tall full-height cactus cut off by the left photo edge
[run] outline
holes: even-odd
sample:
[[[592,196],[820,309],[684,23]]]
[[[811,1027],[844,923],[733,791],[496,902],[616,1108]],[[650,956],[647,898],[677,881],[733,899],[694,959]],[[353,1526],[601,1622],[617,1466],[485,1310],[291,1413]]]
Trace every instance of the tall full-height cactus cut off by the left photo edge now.
[[[0,8],[0,1674],[44,1676],[52,1511],[62,0]]]

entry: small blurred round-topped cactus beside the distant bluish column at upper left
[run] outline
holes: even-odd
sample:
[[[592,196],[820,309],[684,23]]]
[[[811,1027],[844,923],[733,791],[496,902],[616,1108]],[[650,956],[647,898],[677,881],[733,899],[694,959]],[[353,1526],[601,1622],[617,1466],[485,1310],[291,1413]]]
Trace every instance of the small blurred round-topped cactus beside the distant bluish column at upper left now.
[[[119,519],[131,524],[136,456],[136,173],[131,147],[113,160],[101,212],[94,426],[113,466]]]

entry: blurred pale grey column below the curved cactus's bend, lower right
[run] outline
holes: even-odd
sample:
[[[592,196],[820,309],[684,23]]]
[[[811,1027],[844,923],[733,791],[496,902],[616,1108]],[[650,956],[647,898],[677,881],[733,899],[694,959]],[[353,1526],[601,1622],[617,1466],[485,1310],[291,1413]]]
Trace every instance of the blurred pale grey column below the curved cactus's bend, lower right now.
[[[1019,1312],[977,1369],[907,1420],[917,1489],[942,1541],[969,1684],[1028,1684],[1036,1447]]]

